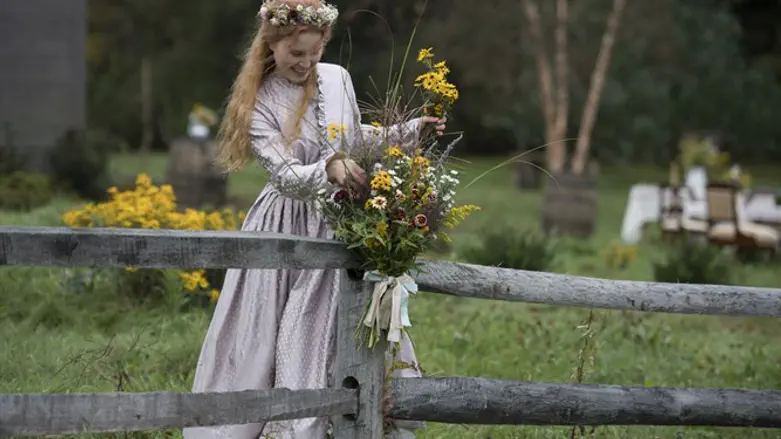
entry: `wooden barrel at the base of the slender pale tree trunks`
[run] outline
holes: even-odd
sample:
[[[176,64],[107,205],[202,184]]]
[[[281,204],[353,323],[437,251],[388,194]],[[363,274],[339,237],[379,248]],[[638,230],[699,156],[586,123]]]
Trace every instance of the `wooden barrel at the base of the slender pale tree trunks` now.
[[[594,233],[596,219],[596,178],[561,174],[548,183],[542,206],[545,233],[587,238]]]

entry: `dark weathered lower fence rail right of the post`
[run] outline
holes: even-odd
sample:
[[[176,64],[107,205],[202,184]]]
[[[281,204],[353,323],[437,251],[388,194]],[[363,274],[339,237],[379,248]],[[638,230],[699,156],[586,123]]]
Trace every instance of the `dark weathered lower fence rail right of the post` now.
[[[781,391],[394,379],[391,416],[450,424],[781,427]]]

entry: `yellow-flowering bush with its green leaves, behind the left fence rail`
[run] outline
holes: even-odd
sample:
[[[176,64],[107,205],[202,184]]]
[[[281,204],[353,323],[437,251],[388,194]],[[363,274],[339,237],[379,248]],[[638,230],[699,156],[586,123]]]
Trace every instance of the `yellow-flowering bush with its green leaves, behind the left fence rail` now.
[[[169,185],[155,186],[149,176],[141,174],[136,178],[136,187],[119,191],[108,190],[109,200],[90,203],[73,209],[62,216],[70,227],[121,227],[144,229],[179,230],[237,230],[244,219],[244,213],[232,209],[221,211],[199,211],[176,209],[176,197]],[[192,293],[191,299],[214,302],[219,291],[209,283],[206,270],[182,270],[178,282]],[[219,276],[216,276],[219,277]],[[166,276],[161,270],[139,270],[129,267],[122,271],[120,291],[137,299],[164,298]]]

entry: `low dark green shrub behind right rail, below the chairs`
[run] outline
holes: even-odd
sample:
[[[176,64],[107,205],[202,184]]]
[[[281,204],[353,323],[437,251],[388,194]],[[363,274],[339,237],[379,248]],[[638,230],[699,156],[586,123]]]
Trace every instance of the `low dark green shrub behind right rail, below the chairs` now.
[[[720,247],[681,241],[667,250],[666,259],[654,264],[657,282],[729,285],[734,264]]]

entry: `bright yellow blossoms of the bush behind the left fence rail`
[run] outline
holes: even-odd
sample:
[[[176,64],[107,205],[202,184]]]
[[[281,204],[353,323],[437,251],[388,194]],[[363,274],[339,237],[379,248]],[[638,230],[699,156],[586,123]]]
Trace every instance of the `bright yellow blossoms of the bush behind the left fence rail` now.
[[[110,188],[106,202],[89,203],[65,212],[63,223],[69,227],[238,230],[244,221],[244,213],[232,209],[212,212],[186,209],[180,212],[171,186],[155,186],[146,174],[138,175],[135,183],[132,190]],[[127,271],[135,272],[132,267]],[[204,292],[212,301],[219,296],[218,290],[210,290],[205,270],[183,271],[180,279],[186,291]]]

